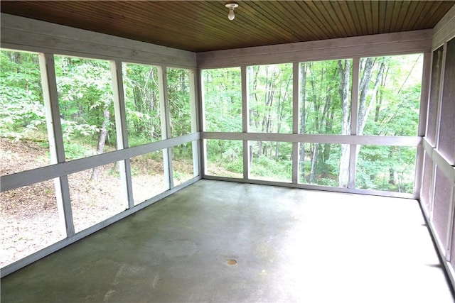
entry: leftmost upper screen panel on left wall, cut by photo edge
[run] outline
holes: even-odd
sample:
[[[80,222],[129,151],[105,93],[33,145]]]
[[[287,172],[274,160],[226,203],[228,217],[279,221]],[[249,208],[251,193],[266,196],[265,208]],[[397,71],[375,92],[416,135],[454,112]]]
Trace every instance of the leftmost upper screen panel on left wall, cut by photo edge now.
[[[0,175],[50,165],[38,54],[0,51]]]

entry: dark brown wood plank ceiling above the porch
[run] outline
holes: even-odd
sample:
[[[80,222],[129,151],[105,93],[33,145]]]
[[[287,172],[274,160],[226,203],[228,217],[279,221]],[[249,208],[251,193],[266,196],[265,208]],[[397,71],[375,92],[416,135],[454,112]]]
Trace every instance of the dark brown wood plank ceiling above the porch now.
[[[455,1],[1,1],[2,13],[203,52],[433,28]]]

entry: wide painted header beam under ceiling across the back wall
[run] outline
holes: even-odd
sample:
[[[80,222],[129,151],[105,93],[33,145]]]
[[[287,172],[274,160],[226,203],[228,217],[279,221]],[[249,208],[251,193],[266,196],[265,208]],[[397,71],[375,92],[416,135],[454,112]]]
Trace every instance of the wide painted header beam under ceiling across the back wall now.
[[[267,45],[197,53],[198,68],[403,55],[431,50],[432,30]]]

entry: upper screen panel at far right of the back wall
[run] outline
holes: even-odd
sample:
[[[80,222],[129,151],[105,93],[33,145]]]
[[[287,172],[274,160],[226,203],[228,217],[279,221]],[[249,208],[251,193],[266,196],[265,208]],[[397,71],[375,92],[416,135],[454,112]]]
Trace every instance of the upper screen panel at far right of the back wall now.
[[[417,136],[423,55],[360,59],[358,135]]]

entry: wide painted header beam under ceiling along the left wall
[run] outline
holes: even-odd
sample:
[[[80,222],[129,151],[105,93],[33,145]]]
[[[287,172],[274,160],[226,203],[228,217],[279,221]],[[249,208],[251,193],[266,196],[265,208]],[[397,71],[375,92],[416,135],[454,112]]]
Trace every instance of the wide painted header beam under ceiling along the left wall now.
[[[196,67],[196,53],[1,13],[1,47],[146,64]]]

